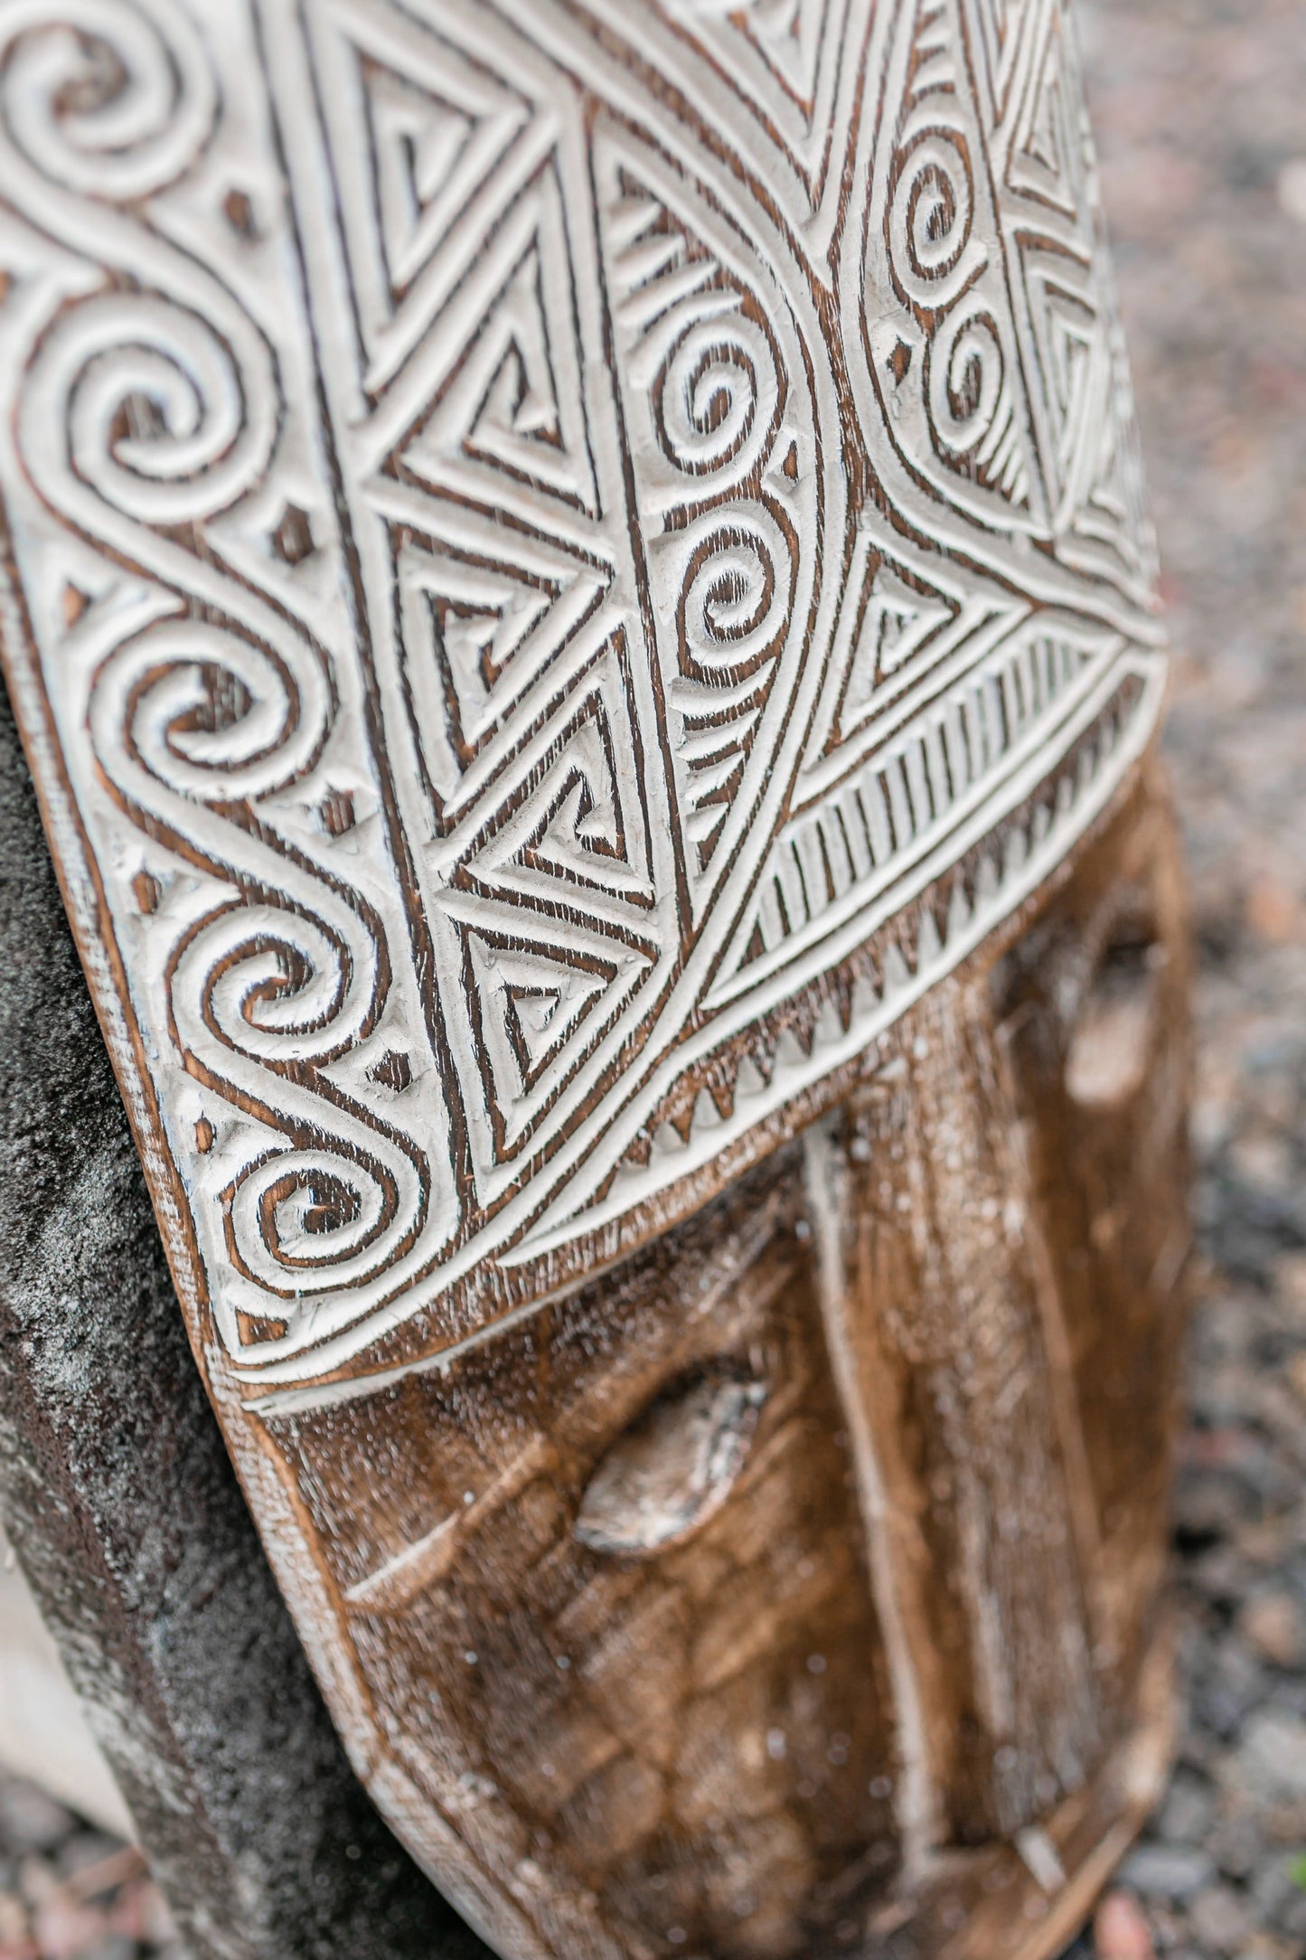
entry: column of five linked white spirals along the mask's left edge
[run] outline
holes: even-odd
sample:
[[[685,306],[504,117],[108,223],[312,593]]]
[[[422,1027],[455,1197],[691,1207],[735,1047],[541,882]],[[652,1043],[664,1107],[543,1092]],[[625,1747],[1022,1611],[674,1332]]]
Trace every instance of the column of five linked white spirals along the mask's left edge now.
[[[268,802],[323,757],[329,662],[225,568],[219,539],[202,541],[268,482],[280,376],[221,278],[159,233],[141,249],[141,200],[194,165],[217,112],[194,27],[170,0],[59,12],[53,25],[47,0],[0,8],[0,174],[29,196],[39,174],[70,247],[98,263],[100,231],[131,276],[45,331],[18,445],[51,510],[135,572],[78,627],[78,659],[100,649],[88,715],[106,780],[184,868],[176,941],[143,984],[161,986],[178,1056],[233,1117],[211,1158],[227,1256],[280,1299],[335,1294],[413,1245],[431,1178],[331,1074],[384,1013],[382,921],[284,839]],[[186,302],[141,290],[141,265]]]

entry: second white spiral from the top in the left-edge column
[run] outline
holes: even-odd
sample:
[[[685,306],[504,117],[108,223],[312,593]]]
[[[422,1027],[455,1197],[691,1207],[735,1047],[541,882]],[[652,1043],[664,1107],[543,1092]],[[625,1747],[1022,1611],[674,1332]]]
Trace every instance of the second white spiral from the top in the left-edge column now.
[[[153,294],[100,294],[63,314],[20,419],[23,459],[55,508],[80,515],[88,490],[133,523],[178,525],[251,490],[276,447],[278,388],[262,337],[235,331],[241,345]]]

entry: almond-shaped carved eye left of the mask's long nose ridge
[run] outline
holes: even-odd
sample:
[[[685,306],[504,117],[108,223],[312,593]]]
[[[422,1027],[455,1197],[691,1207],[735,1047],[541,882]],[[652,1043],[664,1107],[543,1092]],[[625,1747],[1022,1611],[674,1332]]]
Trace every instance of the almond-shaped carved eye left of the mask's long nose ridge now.
[[[589,1480],[580,1543],[650,1558],[705,1525],[744,1468],[766,1394],[764,1382],[715,1368],[660,1396]]]

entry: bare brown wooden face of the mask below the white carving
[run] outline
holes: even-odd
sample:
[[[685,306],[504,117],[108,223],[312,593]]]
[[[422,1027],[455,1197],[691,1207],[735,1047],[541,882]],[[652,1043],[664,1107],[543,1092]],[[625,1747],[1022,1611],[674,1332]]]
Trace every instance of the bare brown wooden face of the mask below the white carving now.
[[[593,1913],[629,1950],[879,1925],[934,1960],[952,1909],[975,1952],[1042,1952],[1057,1864],[1100,1882],[1128,1842],[1120,1764],[1159,1772],[1185,1004],[1151,766],[687,1225],[458,1360],[251,1423],[378,1733],[519,1895],[550,1868],[560,1946]],[[713,1394],[742,1429],[717,1482],[685,1427]],[[1030,1829],[1053,1864],[995,1866]]]

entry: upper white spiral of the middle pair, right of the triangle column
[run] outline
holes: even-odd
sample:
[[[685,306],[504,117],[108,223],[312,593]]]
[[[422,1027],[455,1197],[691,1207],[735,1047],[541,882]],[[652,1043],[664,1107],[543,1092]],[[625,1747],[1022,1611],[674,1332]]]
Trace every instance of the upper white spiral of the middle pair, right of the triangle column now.
[[[770,447],[783,408],[779,361],[766,327],[736,298],[689,308],[654,384],[658,439],[685,476],[728,465],[744,476]]]

